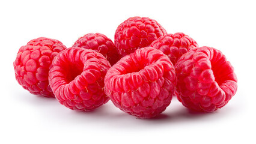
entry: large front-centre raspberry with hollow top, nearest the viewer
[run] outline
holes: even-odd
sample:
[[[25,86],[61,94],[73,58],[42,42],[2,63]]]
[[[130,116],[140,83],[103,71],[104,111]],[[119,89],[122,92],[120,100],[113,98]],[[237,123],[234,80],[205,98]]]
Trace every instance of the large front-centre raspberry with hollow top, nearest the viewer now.
[[[171,103],[177,79],[169,58],[145,47],[124,56],[105,77],[105,93],[119,109],[138,118],[153,118]]]

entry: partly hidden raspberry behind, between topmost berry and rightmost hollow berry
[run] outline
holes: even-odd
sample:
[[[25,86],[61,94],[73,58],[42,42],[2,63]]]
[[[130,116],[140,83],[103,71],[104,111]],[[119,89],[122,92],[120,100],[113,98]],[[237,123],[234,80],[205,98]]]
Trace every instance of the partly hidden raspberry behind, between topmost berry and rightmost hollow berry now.
[[[177,32],[175,34],[166,34],[157,38],[157,40],[153,41],[150,46],[165,53],[172,64],[175,65],[184,53],[194,47],[198,47],[198,44],[188,35],[185,35],[182,32]]]

